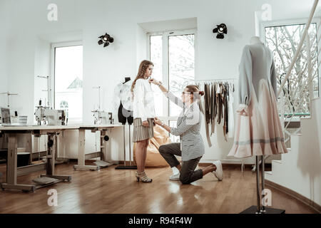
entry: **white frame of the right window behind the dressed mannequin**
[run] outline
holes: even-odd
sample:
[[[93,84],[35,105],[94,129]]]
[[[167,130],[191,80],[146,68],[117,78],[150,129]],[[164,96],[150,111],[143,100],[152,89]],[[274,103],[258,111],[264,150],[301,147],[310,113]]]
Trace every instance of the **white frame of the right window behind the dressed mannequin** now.
[[[316,24],[317,28],[319,28],[320,26],[320,22],[321,22],[321,17],[315,17],[312,19],[311,21],[311,24]],[[260,22],[260,39],[261,41],[263,41],[263,43],[266,45],[266,42],[265,42],[265,28],[267,27],[275,27],[275,26],[294,26],[294,25],[302,25],[302,24],[307,24],[307,19],[290,19],[290,20],[275,20],[275,21],[261,21]],[[319,30],[317,30],[317,51],[320,50],[320,47],[321,47],[321,42],[320,40],[318,39],[319,37],[321,36],[321,30],[319,28]],[[317,53],[317,62],[320,61],[320,52]],[[319,99],[320,98],[320,95],[321,95],[321,91],[320,91],[320,80],[321,80],[321,75],[320,75],[320,67],[317,68],[317,71],[318,71],[318,82],[319,82],[319,96],[318,97],[314,97],[313,98],[310,98],[310,101],[312,100],[316,100],[316,99]],[[310,90],[310,88],[309,88]],[[313,94],[313,91],[309,91],[310,94]],[[311,102],[310,102],[310,108],[311,108]]]

